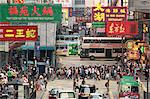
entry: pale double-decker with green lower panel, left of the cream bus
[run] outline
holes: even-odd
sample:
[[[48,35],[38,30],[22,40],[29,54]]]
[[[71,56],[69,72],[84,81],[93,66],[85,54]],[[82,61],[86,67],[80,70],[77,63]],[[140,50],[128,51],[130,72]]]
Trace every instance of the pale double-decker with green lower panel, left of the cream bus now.
[[[56,54],[69,56],[79,54],[79,35],[58,35]]]

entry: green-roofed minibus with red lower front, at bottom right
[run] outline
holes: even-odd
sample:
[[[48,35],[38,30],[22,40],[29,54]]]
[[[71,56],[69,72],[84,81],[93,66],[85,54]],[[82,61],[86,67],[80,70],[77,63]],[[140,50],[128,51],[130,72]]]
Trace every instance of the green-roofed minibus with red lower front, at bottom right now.
[[[139,86],[140,84],[134,80],[133,76],[123,76],[119,81],[118,99],[140,99]]]

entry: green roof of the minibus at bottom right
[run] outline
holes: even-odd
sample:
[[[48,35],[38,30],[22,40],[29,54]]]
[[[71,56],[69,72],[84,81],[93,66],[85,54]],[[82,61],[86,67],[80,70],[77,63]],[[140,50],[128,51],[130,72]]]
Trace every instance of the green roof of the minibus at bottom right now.
[[[119,82],[120,85],[139,86],[139,83],[134,80],[133,76],[123,76]]]

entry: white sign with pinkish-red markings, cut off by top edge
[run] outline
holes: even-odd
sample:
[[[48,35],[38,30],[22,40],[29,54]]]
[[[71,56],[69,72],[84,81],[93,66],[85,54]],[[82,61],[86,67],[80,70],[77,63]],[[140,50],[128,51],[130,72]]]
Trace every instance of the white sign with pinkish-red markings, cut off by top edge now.
[[[54,4],[62,4],[62,7],[72,7],[73,0],[53,0]]]

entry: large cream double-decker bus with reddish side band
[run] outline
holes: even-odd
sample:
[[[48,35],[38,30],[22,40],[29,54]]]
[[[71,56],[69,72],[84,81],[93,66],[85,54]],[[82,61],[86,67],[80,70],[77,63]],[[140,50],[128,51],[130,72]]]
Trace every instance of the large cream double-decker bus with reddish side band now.
[[[120,37],[83,37],[80,58],[112,58],[121,55],[125,40]]]

